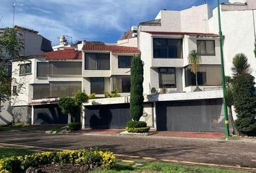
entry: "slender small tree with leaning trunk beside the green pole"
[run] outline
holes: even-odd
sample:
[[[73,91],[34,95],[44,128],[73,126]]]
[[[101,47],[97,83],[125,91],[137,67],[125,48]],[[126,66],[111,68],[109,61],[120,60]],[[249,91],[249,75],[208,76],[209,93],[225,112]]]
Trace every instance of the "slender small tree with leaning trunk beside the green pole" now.
[[[234,96],[233,96],[233,91],[232,91],[231,87],[226,88],[224,102],[226,102],[226,105],[229,107],[229,120],[230,120],[232,128],[233,128],[233,134],[239,135],[239,131],[237,130],[236,125],[234,123],[234,118],[233,118],[233,113],[232,113],[232,105],[234,105]]]

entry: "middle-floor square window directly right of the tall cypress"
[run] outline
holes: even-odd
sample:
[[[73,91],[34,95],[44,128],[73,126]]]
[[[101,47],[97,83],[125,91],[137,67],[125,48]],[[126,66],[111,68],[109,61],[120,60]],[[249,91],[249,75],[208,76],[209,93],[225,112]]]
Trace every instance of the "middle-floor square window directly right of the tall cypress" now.
[[[159,86],[160,88],[176,88],[175,68],[159,68]]]

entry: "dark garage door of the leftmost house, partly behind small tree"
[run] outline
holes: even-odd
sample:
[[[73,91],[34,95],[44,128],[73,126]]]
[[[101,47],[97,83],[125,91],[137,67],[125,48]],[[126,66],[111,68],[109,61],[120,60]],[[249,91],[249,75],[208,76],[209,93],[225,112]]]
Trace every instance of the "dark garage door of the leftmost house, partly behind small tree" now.
[[[67,115],[61,113],[58,105],[34,106],[35,124],[67,124]]]

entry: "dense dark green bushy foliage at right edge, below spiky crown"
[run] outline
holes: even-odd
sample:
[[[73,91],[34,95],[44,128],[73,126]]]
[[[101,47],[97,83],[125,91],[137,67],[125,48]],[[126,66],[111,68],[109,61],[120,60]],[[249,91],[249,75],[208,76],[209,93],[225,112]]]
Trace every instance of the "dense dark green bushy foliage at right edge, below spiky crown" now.
[[[234,76],[232,83],[234,94],[234,107],[236,109],[235,121],[239,133],[247,136],[256,136],[256,97],[255,81],[250,74]]]

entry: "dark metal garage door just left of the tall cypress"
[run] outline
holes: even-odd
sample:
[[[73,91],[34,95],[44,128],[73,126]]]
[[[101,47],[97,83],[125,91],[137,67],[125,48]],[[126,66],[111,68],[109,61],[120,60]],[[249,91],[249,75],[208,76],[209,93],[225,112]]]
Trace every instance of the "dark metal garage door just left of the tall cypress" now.
[[[129,120],[129,104],[85,107],[86,128],[125,128]]]

